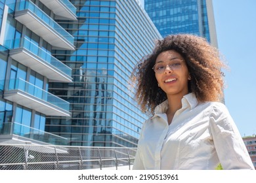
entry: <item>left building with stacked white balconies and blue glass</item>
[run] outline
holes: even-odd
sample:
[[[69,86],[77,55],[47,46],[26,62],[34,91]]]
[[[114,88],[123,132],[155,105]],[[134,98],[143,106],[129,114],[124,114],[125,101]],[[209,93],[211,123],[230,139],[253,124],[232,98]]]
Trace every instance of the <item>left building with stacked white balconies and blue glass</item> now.
[[[0,0],[0,143],[68,144],[45,131],[47,116],[71,116],[70,104],[49,82],[73,81],[72,69],[52,55],[75,50],[56,20],[76,21],[68,0]]]

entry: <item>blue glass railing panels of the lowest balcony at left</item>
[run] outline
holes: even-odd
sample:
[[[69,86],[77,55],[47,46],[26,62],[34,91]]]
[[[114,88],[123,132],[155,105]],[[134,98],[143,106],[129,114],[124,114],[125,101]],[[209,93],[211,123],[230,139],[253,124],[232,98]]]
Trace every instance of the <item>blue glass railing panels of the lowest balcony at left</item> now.
[[[24,137],[32,139],[33,141],[44,142],[47,144],[62,145],[66,146],[68,144],[68,139],[54,135],[53,133],[48,133],[33,127],[22,125],[16,122],[8,122],[0,125],[0,135],[17,135],[19,137]]]

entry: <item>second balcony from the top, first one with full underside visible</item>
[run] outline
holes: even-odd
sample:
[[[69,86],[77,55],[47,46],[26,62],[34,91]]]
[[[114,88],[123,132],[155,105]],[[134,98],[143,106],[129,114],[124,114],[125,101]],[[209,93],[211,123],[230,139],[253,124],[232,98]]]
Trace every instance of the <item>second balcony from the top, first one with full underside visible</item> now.
[[[56,50],[75,50],[74,37],[30,1],[17,3],[14,18],[49,42]]]

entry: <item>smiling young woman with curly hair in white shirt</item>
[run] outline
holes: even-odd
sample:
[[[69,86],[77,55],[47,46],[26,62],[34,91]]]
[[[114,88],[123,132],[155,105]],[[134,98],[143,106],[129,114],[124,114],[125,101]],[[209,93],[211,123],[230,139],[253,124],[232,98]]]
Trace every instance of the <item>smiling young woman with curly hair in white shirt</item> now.
[[[135,70],[142,126],[133,169],[254,169],[223,103],[219,52],[194,35],[156,42]]]

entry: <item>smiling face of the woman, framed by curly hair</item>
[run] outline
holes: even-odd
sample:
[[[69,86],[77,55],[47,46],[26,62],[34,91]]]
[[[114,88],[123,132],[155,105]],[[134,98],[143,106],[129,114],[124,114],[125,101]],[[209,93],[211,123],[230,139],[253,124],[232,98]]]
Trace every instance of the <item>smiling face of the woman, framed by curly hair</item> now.
[[[190,80],[188,67],[178,52],[174,50],[161,52],[156,58],[154,71],[156,80],[167,97],[184,96],[188,93],[188,80]]]

